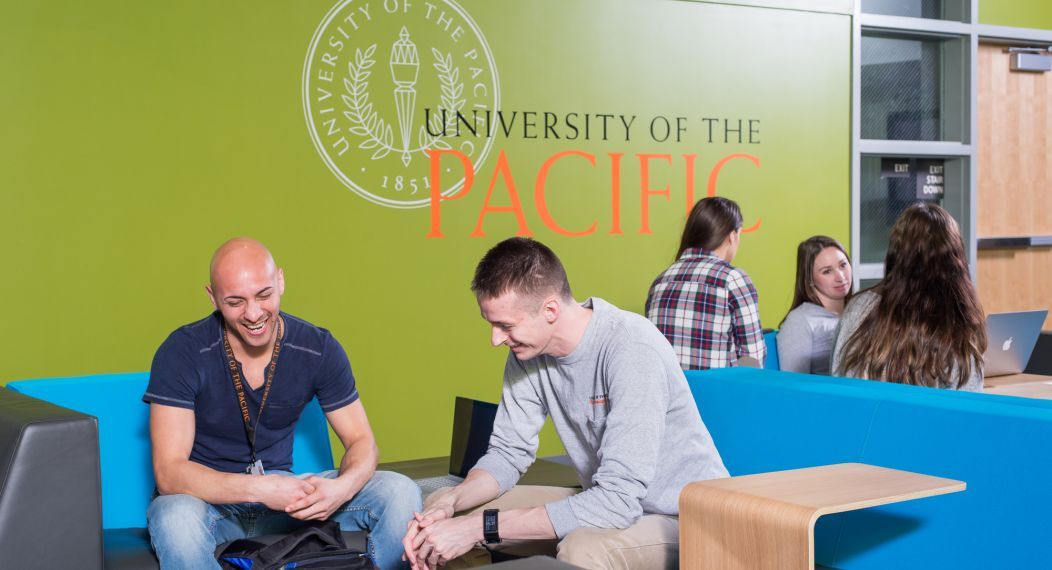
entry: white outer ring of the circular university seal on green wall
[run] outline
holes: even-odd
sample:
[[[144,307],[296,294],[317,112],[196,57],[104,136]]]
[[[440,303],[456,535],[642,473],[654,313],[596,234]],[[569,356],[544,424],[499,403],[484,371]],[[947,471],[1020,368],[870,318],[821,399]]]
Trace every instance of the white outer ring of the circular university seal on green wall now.
[[[360,1],[360,0],[358,0],[358,1]],[[347,6],[347,4],[350,4],[350,3],[353,3],[353,2],[356,2],[356,0],[341,0],[339,3],[337,3],[335,6],[332,6],[332,8],[329,9],[329,12],[325,15],[325,18],[322,20],[321,24],[319,24],[318,28],[315,30],[313,36],[310,38],[310,45],[307,48],[307,55],[306,55],[306,58],[304,59],[304,64],[303,64],[303,81],[302,81],[302,83],[303,83],[303,93],[302,93],[303,114],[304,114],[304,119],[306,120],[306,123],[307,123],[307,129],[308,129],[308,131],[310,134],[310,141],[313,143],[315,149],[318,150],[318,154],[321,155],[322,160],[325,162],[325,165],[328,166],[329,170],[331,170],[332,174],[336,175],[336,177],[340,180],[340,182],[342,182],[343,185],[345,185],[349,189],[351,189],[355,194],[361,196],[362,198],[365,198],[369,202],[372,202],[375,204],[379,204],[379,205],[382,205],[382,206],[393,207],[393,208],[419,208],[419,207],[428,206],[430,204],[430,188],[429,188],[430,181],[429,181],[429,175],[427,177],[428,178],[428,186],[425,187],[425,188],[423,188],[423,191],[426,192],[426,195],[425,195],[426,198],[423,198],[423,199],[420,199],[420,200],[414,200],[414,201],[409,201],[409,200],[392,200],[390,198],[385,198],[383,196],[378,196],[377,194],[375,194],[372,191],[369,191],[366,188],[363,188],[360,184],[358,184],[357,182],[355,182],[353,180],[351,180],[333,162],[333,160],[329,156],[329,152],[326,149],[324,143],[322,142],[322,139],[321,139],[321,136],[319,135],[319,133],[318,133],[318,129],[315,126],[313,115],[311,113],[312,111],[312,107],[311,107],[311,101],[310,101],[310,95],[311,95],[310,94],[310,89],[311,89],[311,87],[313,85],[311,84],[310,80],[311,80],[311,77],[312,77],[312,72],[316,68],[311,66],[311,59],[316,55],[315,50],[317,49],[319,42],[325,36],[325,32],[327,30],[329,24],[344,9],[344,7]],[[489,42],[486,41],[485,35],[482,33],[482,29],[479,27],[479,25],[476,23],[476,21],[467,14],[467,12],[465,12],[460,5],[458,5],[454,2],[454,0],[436,0],[436,3],[439,3],[439,2],[442,2],[447,7],[449,7],[452,12],[454,12],[458,16],[460,16],[463,19],[463,21],[469,26],[470,30],[476,35],[476,38],[478,39],[478,41],[480,43],[480,46],[481,46],[481,52],[486,57],[486,64],[489,66],[489,73],[492,76],[492,85],[491,86],[492,86],[492,89],[493,89],[493,94],[492,94],[493,97],[492,97],[492,106],[490,108],[491,108],[492,113],[495,114],[497,110],[500,108],[501,81],[500,81],[500,77],[498,75],[497,64],[493,61],[493,54],[492,54],[492,52],[489,48]],[[378,2],[378,3],[380,3],[380,2]],[[353,48],[352,45],[348,45],[348,47]],[[438,111],[438,110],[439,110],[438,108],[432,109],[432,111]],[[472,167],[477,171],[479,169],[479,166],[481,166],[485,162],[486,157],[488,156],[490,149],[492,148],[492,146],[493,146],[493,139],[494,139],[494,137],[485,137],[485,143],[483,144],[482,151],[479,154],[479,158],[477,160],[471,160]],[[469,157],[469,160],[470,160],[470,157]],[[451,195],[456,194],[457,191],[459,191],[463,186],[464,186],[464,177],[461,177],[461,179],[456,184],[453,184],[452,186],[450,186],[448,189],[443,190],[442,191],[442,196],[451,196]]]

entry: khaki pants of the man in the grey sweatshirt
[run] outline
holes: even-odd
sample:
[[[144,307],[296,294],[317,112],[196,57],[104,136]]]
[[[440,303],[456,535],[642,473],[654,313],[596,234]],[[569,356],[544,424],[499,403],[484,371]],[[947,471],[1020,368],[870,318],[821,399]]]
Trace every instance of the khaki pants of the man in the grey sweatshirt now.
[[[565,487],[520,485],[494,501],[458,514],[540,507],[578,492]],[[579,528],[562,541],[503,541],[488,548],[515,556],[546,554],[589,570],[675,569],[680,567],[680,520],[647,514],[626,529]],[[489,551],[477,547],[446,567],[473,568],[486,564],[490,564]]]

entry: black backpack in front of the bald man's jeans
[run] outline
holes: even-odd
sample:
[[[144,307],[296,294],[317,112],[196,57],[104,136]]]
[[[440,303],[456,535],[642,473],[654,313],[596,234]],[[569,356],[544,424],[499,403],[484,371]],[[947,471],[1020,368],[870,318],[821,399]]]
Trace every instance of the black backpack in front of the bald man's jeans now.
[[[284,535],[232,541],[216,549],[216,559],[222,568],[237,570],[377,568],[361,548],[347,546],[332,521],[310,522]]]

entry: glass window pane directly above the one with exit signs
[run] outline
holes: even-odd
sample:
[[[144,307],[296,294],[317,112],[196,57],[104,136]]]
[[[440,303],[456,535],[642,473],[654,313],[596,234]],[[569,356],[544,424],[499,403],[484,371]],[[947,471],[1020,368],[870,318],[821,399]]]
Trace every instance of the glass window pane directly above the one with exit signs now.
[[[965,142],[965,44],[962,38],[864,34],[862,138]]]

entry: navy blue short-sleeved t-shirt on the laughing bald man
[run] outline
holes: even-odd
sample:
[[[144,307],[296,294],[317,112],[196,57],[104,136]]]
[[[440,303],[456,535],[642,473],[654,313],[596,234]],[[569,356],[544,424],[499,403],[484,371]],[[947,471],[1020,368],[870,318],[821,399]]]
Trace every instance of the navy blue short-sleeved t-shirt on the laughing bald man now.
[[[325,412],[358,400],[347,353],[332,334],[285,312],[281,315],[285,321],[281,354],[256,428],[256,453],[266,470],[291,469],[292,431],[315,395]],[[226,363],[222,326],[223,317],[216,311],[169,334],[154,355],[142,400],[194,410],[197,432],[190,461],[239,473],[251,463],[251,447]],[[263,385],[258,390],[247,382],[243,386],[255,425]]]

